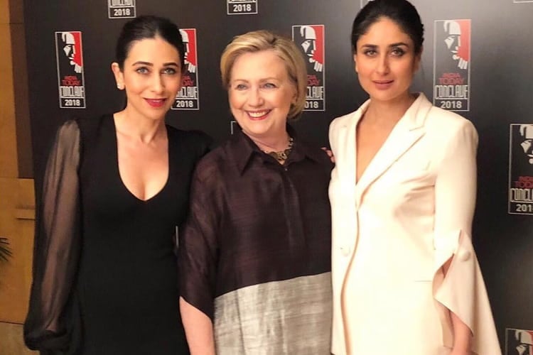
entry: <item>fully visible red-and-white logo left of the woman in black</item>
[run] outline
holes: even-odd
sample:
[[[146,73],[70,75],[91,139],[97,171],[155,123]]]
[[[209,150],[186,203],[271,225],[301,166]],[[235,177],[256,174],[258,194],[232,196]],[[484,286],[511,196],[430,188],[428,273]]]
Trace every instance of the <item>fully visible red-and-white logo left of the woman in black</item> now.
[[[59,107],[85,109],[82,33],[55,32],[55,59],[58,65]]]

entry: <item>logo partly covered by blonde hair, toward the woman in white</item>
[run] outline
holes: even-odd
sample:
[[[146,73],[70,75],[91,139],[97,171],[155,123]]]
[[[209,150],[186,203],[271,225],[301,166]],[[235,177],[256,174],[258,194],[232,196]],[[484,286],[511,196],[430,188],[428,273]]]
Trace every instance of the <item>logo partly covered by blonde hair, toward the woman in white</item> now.
[[[324,90],[324,25],[292,26],[292,39],[307,63],[305,111],[325,110]]]

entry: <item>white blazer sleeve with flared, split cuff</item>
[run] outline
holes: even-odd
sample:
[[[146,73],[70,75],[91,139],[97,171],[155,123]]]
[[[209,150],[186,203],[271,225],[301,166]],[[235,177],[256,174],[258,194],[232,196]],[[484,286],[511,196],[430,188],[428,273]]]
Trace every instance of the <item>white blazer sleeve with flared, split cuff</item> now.
[[[443,340],[453,346],[448,310],[472,331],[476,354],[499,355],[494,321],[471,241],[475,209],[478,134],[462,120],[444,151],[435,183],[434,296],[441,307]],[[446,275],[442,266],[451,259]]]

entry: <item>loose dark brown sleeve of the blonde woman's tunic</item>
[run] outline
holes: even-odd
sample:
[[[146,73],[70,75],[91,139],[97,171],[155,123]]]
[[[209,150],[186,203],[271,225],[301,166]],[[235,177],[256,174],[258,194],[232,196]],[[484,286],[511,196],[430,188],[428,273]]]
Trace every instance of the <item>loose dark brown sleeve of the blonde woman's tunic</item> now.
[[[190,210],[179,234],[180,293],[213,319],[220,210],[220,179],[200,161],[190,189]]]

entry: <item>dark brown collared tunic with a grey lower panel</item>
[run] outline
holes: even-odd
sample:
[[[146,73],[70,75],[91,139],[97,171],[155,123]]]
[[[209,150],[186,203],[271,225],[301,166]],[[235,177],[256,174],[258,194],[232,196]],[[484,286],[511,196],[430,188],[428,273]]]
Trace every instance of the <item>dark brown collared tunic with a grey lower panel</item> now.
[[[297,137],[280,165],[240,131],[198,164],[181,295],[211,318],[217,354],[330,354],[331,168]]]

